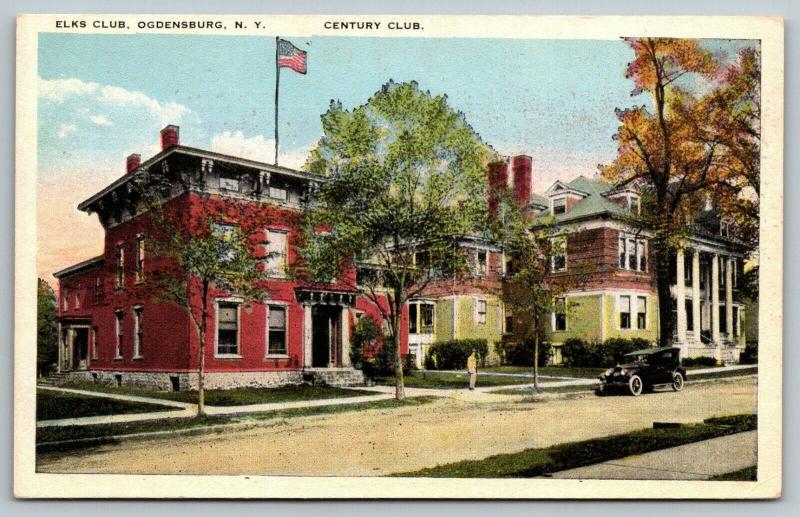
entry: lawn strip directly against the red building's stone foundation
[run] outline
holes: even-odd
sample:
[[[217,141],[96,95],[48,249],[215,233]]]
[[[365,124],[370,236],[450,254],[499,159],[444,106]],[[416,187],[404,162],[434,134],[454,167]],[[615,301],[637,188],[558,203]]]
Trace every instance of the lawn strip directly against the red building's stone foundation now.
[[[91,382],[73,382],[65,388],[100,391],[103,393],[120,393],[138,395],[158,399],[176,400],[178,402],[197,403],[196,391],[156,391],[129,386],[107,386]],[[279,388],[235,388],[230,390],[206,390],[206,404],[209,406],[247,406],[250,404],[268,404],[272,402],[293,402],[298,400],[319,400],[360,395],[374,395],[366,390],[349,390],[331,386],[282,386]]]

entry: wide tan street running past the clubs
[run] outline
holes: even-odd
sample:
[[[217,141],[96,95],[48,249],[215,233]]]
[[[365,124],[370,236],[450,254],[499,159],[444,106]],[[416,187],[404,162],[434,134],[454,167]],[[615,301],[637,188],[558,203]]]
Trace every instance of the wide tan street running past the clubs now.
[[[225,434],[44,453],[39,471],[386,475],[624,433],[653,421],[698,422],[755,412],[754,377],[688,384],[680,393],[641,397],[442,398],[417,407],[272,421]]]

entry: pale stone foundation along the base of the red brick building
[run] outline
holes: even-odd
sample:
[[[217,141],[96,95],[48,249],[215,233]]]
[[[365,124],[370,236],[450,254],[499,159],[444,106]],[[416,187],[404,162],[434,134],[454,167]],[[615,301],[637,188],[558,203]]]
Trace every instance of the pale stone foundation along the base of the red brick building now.
[[[70,381],[94,382],[107,386],[132,386],[159,391],[197,390],[197,373],[188,372],[115,372],[89,370],[60,375],[56,384]],[[272,372],[208,372],[206,389],[275,388],[312,382],[328,386],[359,386],[364,374],[352,368],[320,368]]]

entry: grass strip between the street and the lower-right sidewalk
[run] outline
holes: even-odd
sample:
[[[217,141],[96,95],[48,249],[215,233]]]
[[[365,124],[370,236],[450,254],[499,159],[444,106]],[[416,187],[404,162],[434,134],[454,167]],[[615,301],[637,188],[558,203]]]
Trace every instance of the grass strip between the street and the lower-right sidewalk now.
[[[441,478],[537,477],[718,436],[752,431],[756,429],[756,425],[756,415],[710,418],[702,424],[668,429],[642,429],[543,449],[499,454],[482,460],[459,461],[399,475]]]

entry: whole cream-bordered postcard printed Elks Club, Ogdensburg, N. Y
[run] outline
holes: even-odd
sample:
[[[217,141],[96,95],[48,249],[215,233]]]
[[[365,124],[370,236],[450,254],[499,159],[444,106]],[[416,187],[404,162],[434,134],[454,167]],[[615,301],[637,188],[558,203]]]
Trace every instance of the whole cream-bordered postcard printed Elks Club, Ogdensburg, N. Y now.
[[[780,497],[781,19],[17,25],[17,497]]]

